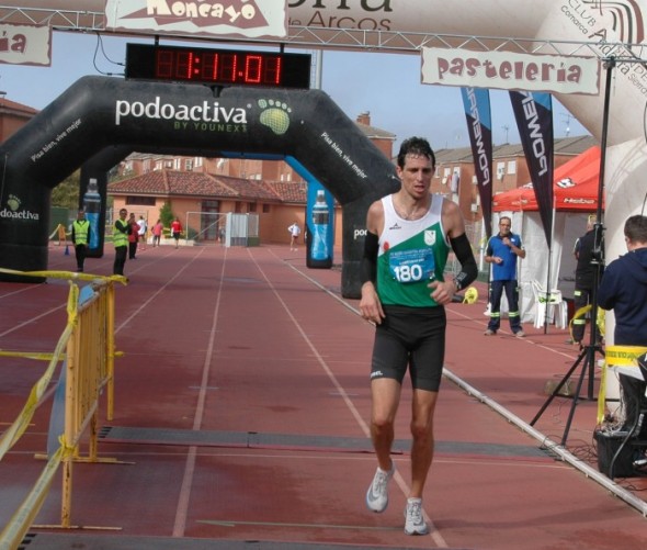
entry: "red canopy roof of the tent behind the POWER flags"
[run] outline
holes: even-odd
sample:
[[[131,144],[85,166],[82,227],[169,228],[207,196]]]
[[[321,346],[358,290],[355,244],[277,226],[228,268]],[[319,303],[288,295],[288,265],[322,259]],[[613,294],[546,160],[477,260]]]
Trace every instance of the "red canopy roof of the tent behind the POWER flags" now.
[[[591,147],[555,169],[555,210],[595,212],[600,175],[600,147]],[[604,207],[604,203],[602,203]],[[537,211],[532,183],[492,198],[493,212]]]

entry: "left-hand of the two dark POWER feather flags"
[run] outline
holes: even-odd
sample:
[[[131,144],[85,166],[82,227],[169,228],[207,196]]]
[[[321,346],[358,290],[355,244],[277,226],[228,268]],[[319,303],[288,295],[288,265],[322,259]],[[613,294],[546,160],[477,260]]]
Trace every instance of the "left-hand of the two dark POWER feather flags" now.
[[[490,93],[485,88],[461,88],[472,144],[476,184],[486,235],[492,235],[492,124]]]

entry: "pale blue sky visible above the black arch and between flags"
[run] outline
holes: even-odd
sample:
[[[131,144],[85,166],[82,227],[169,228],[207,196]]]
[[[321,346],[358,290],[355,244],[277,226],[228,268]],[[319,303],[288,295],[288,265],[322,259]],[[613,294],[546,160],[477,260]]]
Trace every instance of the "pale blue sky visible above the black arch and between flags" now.
[[[122,75],[127,42],[125,37],[98,40],[95,34],[55,31],[52,66],[0,65],[0,92],[42,110],[83,76]],[[151,43],[151,38],[139,42]],[[200,46],[207,47],[205,43]],[[319,67],[321,89],[350,119],[368,112],[372,126],[395,134],[394,150],[412,135],[427,137],[434,149],[468,146],[461,89],[421,83],[420,66],[419,55],[325,50]],[[508,91],[492,90],[490,101],[493,144],[519,143]],[[553,113],[555,137],[589,134],[555,99]]]

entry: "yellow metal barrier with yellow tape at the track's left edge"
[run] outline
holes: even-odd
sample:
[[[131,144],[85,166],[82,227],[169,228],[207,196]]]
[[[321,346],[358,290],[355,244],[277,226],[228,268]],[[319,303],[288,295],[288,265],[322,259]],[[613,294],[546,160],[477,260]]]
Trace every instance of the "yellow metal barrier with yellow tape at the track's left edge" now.
[[[0,351],[0,356],[48,359],[49,364],[41,380],[34,384],[27,402],[16,420],[0,437],[0,460],[13,447],[29,426],[56,369],[65,358],[65,429],[59,435],[60,447],[48,458],[36,484],[25,497],[9,524],[0,534],[0,550],[18,549],[49,491],[58,465],[63,463],[61,524],[71,527],[72,463],[79,457],[79,441],[90,428],[89,456],[86,461],[105,461],[98,458],[97,412],[99,399],[107,389],[109,419],[114,406],[114,282],[126,282],[121,276],[97,277],[89,273],[54,271],[22,272],[0,269],[2,272],[29,277],[48,277],[70,280],[67,302],[68,322],[53,353]],[[92,281],[92,293],[79,304],[79,288],[72,280]],[[64,356],[64,349],[66,353]],[[114,462],[114,461],[111,461]],[[48,526],[55,527],[55,526]]]

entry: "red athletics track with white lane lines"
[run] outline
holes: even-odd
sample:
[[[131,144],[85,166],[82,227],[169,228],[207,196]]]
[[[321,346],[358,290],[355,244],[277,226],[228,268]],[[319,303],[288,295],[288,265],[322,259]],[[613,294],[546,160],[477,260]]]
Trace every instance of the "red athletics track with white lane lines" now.
[[[107,274],[112,259],[112,251],[89,259],[87,271]],[[75,260],[53,247],[49,263],[73,269]],[[546,381],[576,360],[566,333],[526,325],[527,338],[517,339],[504,326],[484,337],[483,285],[478,304],[447,307],[451,380],[441,389],[423,503],[434,529],[407,537],[410,395],[404,392],[397,422],[390,505],[368,513],[373,327],[357,316],[356,301],[340,298],[339,270],[308,270],[303,249],[287,245],[162,246],[140,251],[126,274],[130,283],[117,288],[116,341],[125,356],[116,363],[115,417],[105,420],[102,402],[99,445],[101,457],[124,463],[78,463],[73,478],[72,524],[105,529],[34,528],[25,549],[647,545],[647,519],[625,498],[645,498],[645,480],[617,480],[620,497],[597,480],[594,402],[576,407],[567,441],[580,468],[537,439],[560,441],[570,400],[556,399],[536,433],[523,428],[547,399]],[[0,348],[50,351],[67,292],[56,280],[0,283]],[[2,425],[16,417],[44,364],[2,359]],[[0,462],[2,526],[44,465],[34,453],[46,448],[50,401]],[[57,481],[36,524],[59,523]]]

